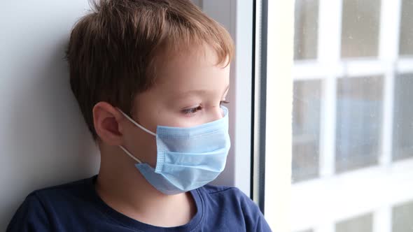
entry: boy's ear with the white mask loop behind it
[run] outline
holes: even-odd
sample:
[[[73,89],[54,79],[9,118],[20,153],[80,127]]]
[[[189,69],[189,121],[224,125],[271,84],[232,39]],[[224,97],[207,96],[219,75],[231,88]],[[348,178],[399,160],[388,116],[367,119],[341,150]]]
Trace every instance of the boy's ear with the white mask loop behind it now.
[[[108,145],[121,145],[123,133],[119,122],[123,115],[104,101],[96,103],[92,113],[94,129],[99,138]]]

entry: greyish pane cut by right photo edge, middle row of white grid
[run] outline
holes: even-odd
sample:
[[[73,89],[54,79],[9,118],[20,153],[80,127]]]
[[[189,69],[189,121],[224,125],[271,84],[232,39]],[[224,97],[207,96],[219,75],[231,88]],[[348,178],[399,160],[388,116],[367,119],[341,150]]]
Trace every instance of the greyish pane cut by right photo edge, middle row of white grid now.
[[[413,74],[395,78],[393,160],[413,157]]]

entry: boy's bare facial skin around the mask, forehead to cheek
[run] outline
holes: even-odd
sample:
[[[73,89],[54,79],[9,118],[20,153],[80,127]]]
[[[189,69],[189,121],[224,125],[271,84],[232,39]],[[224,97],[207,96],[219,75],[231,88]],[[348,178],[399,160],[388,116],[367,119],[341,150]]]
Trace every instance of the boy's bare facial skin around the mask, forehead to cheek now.
[[[133,119],[156,133],[156,126],[189,127],[223,117],[220,108],[230,84],[230,66],[216,66],[209,47],[186,52],[159,65],[156,84],[134,99]],[[155,166],[155,137],[123,120],[123,143],[132,154]]]

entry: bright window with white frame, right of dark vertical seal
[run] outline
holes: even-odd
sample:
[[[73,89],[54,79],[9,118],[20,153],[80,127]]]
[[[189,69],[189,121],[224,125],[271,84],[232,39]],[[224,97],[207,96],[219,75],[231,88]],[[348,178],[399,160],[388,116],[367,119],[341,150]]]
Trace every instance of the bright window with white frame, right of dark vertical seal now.
[[[413,2],[258,2],[269,223],[412,230]]]

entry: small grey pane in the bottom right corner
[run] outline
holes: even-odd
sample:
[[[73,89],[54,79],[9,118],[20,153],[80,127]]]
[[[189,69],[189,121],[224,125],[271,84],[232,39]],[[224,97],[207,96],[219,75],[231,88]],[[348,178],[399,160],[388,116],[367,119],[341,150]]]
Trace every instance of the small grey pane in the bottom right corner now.
[[[413,231],[413,201],[393,207],[393,232]]]

